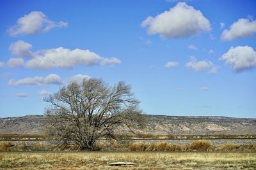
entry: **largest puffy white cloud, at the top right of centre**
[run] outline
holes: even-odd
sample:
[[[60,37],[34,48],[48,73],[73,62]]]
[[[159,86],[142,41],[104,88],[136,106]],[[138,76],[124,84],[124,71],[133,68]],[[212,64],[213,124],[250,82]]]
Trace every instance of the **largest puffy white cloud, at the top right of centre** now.
[[[148,34],[160,34],[163,38],[188,38],[211,30],[209,20],[201,11],[186,3],[177,3],[156,17],[149,16],[141,27],[148,27]]]

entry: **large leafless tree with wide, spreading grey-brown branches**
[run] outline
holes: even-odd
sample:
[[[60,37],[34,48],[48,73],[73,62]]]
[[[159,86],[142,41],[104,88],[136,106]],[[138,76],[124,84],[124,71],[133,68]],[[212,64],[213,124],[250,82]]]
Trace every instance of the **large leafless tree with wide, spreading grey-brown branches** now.
[[[79,150],[95,150],[95,141],[114,138],[120,127],[136,125],[141,111],[131,87],[120,81],[109,87],[101,79],[69,83],[44,101],[49,136],[60,144],[76,144]]]

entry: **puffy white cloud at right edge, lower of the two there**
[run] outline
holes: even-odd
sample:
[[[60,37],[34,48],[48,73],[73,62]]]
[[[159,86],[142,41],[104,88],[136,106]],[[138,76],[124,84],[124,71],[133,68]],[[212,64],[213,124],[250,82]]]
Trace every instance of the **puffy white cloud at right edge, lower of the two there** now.
[[[231,46],[220,60],[232,66],[233,71],[241,72],[256,67],[256,52],[250,46]]]

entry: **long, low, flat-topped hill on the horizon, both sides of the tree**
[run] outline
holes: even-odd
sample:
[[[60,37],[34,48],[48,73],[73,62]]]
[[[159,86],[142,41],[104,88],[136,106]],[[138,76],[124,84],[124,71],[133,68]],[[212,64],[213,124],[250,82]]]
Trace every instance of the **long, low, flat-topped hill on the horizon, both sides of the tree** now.
[[[141,133],[151,134],[256,134],[256,118],[177,117],[145,115]],[[0,133],[42,133],[44,116],[0,118]]]

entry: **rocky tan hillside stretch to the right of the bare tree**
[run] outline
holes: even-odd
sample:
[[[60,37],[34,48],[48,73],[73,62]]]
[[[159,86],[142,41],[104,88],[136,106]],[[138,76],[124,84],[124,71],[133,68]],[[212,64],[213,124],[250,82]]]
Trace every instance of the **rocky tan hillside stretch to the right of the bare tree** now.
[[[256,134],[256,118],[147,115],[145,129],[162,134]]]

